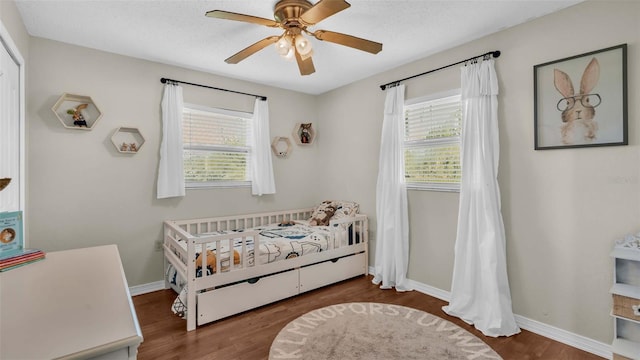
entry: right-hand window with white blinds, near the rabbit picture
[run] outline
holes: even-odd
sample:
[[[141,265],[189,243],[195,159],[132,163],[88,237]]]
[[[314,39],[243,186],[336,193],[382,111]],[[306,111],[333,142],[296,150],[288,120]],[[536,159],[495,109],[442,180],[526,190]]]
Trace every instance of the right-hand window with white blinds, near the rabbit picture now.
[[[404,108],[408,188],[460,190],[460,91],[416,99]]]

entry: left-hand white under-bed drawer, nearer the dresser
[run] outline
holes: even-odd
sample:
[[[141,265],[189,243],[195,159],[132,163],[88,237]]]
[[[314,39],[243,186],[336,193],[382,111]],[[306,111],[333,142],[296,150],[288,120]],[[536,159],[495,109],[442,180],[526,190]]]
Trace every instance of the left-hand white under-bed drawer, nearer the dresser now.
[[[298,270],[198,294],[198,325],[298,295]]]

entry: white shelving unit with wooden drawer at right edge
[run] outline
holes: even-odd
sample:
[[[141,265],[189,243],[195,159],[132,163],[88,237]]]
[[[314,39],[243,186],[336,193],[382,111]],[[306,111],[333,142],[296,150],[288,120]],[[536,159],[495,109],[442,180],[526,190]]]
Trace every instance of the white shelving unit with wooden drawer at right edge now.
[[[639,239],[629,237],[611,252],[614,360],[640,359],[640,249],[630,246],[634,241]]]

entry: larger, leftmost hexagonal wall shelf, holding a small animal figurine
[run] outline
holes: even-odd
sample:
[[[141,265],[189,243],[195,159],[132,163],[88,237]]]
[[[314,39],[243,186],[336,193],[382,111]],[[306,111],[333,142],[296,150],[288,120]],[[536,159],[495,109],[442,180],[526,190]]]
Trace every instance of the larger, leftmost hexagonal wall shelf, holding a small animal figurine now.
[[[67,129],[91,130],[102,117],[90,96],[64,93],[51,108]]]

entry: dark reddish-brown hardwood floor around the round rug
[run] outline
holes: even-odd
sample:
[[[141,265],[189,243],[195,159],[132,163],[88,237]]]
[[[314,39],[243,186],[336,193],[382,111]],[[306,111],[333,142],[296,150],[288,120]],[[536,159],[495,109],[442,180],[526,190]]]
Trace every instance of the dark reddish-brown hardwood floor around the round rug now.
[[[371,283],[371,277],[346,280],[198,327],[191,332],[186,331],[186,321],[170,310],[175,296],[173,290],[162,290],[133,297],[144,337],[138,349],[138,359],[266,359],[271,342],[290,321],[308,311],[346,302],[392,303],[438,315],[484,340],[505,360],[602,359],[524,330],[508,338],[485,337],[472,326],[446,315],[441,309],[446,302],[417,291],[398,293],[380,290]]]

